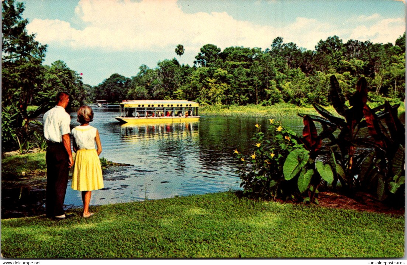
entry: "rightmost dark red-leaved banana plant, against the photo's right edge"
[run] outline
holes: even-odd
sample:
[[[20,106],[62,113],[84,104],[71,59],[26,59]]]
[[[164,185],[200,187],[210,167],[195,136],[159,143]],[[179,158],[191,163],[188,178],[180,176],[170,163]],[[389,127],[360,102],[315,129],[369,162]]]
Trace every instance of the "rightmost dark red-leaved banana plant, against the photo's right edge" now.
[[[404,195],[405,127],[398,119],[396,108],[388,102],[383,107],[381,118],[370,107],[365,106],[363,109],[371,136],[364,142],[373,151],[361,165],[359,177],[362,186],[375,192],[380,200],[387,197],[397,200]]]

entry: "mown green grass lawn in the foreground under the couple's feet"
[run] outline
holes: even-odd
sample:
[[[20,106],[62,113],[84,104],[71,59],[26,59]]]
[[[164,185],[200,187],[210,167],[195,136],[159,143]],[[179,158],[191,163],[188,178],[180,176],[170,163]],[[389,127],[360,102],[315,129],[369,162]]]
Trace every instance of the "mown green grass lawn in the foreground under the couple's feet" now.
[[[235,193],[2,220],[4,258],[398,258],[404,216],[256,202]],[[69,213],[69,212],[68,212]]]

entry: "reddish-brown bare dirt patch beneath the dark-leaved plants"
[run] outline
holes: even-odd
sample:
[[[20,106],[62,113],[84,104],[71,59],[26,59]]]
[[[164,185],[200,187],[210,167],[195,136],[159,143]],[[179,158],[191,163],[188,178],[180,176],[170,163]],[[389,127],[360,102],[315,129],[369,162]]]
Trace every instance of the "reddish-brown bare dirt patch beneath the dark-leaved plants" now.
[[[358,193],[352,199],[339,193],[325,191],[318,194],[318,202],[321,207],[404,215],[404,207],[389,207],[368,193]]]

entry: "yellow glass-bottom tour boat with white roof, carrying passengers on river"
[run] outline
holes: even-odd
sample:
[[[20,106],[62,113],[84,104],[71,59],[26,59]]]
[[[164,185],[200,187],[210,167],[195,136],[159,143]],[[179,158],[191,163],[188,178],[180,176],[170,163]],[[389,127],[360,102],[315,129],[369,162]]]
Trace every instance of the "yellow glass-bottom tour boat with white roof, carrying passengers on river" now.
[[[199,104],[185,100],[134,100],[120,103],[120,123],[197,121]]]

